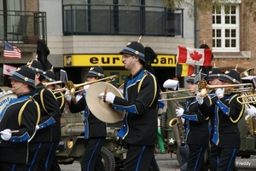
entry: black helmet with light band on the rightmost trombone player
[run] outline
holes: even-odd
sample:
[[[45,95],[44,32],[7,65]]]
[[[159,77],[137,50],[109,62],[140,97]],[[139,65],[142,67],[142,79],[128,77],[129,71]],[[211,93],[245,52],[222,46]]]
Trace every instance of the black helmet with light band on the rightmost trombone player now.
[[[240,74],[234,70],[231,69],[229,71],[225,71],[224,74],[222,74],[219,77],[220,81],[224,81],[224,82],[229,82],[229,83],[233,83],[233,84],[239,84],[240,83]]]

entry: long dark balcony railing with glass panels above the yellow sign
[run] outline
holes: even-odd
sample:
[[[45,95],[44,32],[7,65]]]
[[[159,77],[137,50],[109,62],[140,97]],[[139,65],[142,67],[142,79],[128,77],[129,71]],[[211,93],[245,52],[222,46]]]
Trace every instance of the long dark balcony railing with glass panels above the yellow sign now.
[[[143,5],[63,5],[63,34],[183,37],[183,9]]]

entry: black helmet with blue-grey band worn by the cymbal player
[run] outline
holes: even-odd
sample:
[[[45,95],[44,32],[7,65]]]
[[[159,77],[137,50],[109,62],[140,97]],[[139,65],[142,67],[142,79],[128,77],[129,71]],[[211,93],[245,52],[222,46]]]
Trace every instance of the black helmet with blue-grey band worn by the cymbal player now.
[[[139,59],[143,60],[143,64],[145,64],[145,49],[142,43],[138,43],[137,41],[128,43],[126,47],[119,52],[119,54],[132,54],[137,56]]]

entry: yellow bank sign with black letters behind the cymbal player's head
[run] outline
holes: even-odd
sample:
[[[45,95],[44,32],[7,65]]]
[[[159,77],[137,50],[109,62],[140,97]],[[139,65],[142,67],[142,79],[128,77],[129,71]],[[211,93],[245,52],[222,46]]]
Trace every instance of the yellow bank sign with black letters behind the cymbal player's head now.
[[[70,54],[64,55],[64,66],[124,66],[121,54]],[[176,67],[176,57],[158,54],[152,66]]]

